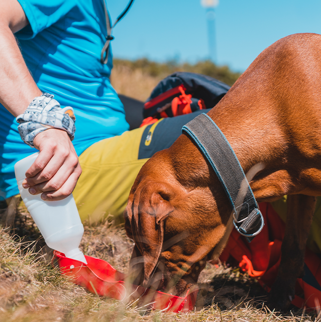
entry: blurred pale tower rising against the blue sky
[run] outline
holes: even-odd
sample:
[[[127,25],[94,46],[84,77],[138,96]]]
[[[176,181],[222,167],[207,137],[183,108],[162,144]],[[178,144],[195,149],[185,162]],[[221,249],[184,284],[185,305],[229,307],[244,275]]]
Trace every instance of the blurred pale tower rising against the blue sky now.
[[[215,8],[219,5],[219,0],[200,0],[200,4],[206,8],[209,58],[213,63],[217,63]]]

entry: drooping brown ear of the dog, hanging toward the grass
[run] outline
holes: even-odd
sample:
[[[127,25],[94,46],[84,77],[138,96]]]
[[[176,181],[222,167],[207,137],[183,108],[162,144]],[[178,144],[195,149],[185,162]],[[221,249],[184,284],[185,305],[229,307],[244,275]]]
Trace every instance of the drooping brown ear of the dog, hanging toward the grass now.
[[[143,285],[146,287],[162,251],[164,220],[174,207],[156,192],[150,195],[149,200],[143,200],[138,211],[134,211],[132,222],[135,221],[134,240],[144,258]]]

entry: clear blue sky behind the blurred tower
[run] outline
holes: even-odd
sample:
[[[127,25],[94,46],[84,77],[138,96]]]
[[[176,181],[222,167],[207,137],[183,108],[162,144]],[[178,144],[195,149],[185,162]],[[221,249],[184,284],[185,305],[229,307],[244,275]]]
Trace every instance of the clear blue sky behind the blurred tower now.
[[[127,0],[107,0],[113,21]],[[321,34],[320,0],[220,0],[216,8],[217,61],[244,71],[257,55],[290,34]],[[208,57],[200,0],[135,0],[113,31],[115,57],[195,62]]]

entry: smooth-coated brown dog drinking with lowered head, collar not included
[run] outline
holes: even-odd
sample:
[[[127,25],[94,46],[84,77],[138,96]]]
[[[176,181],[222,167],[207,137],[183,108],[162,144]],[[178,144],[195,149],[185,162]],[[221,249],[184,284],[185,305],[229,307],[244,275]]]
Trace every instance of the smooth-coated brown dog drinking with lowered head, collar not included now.
[[[315,196],[321,195],[320,53],[320,35],[277,41],[208,113],[245,173],[264,165],[250,181],[256,200],[290,195],[281,264],[270,292],[271,306],[281,309],[303,274]],[[231,211],[215,172],[187,135],[156,153],[141,169],[124,214],[127,234],[135,241],[134,282],[186,291],[205,261],[225,246]]]

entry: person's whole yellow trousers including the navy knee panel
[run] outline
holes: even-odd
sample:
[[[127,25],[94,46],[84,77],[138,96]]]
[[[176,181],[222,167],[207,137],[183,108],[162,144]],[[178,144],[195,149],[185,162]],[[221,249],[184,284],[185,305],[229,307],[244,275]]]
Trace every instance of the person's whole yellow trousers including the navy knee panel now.
[[[81,220],[97,222],[111,214],[121,222],[144,163],[155,152],[171,146],[182,126],[203,111],[160,119],[88,147],[79,156],[82,174],[73,192]]]

